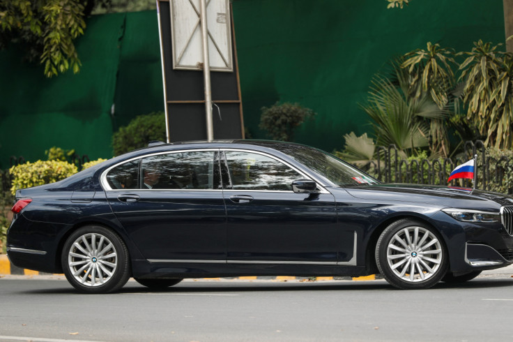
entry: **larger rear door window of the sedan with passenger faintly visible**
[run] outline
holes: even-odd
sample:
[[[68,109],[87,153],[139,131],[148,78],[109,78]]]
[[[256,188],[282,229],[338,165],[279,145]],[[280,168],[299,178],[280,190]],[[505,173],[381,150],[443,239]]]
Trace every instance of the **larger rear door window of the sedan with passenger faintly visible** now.
[[[141,188],[213,189],[214,165],[215,151],[176,152],[142,158]]]

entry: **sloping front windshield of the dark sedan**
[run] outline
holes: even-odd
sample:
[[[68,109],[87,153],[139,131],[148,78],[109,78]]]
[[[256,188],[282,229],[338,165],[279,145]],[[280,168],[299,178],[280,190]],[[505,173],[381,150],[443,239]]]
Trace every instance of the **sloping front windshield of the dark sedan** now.
[[[289,145],[281,148],[280,151],[341,187],[379,183],[378,180],[370,177],[365,172],[319,149],[302,145]]]

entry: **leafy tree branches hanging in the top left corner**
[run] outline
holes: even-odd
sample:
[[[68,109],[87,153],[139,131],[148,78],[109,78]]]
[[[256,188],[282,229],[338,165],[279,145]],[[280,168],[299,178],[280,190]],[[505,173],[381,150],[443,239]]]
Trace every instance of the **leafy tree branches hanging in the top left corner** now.
[[[80,0],[3,0],[0,2],[0,48],[25,43],[27,57],[40,59],[52,77],[80,61],[73,41],[84,34],[84,5]]]

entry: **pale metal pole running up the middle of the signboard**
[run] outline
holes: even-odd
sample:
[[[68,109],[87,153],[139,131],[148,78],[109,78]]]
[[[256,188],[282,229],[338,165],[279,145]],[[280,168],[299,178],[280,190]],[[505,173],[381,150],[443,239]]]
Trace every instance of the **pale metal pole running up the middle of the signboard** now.
[[[205,82],[205,112],[206,137],[214,139],[214,124],[212,119],[212,90],[210,89],[210,61],[208,60],[208,27],[206,22],[206,0],[200,0],[201,43],[203,45],[203,76]]]

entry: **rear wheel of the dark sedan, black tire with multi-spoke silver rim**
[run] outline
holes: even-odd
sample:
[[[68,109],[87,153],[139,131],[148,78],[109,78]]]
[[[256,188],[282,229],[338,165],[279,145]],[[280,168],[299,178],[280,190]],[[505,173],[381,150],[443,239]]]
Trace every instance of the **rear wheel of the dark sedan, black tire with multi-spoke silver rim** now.
[[[86,225],[73,232],[61,255],[69,283],[84,293],[108,293],[122,288],[130,278],[129,261],[121,237],[100,225]]]

